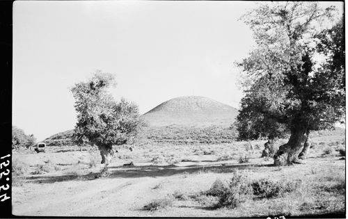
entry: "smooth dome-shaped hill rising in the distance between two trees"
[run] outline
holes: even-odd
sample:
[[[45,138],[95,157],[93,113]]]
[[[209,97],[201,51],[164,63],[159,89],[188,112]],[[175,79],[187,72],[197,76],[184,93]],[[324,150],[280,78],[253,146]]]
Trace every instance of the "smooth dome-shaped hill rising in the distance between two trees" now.
[[[152,108],[141,117],[149,126],[206,127],[210,125],[230,126],[238,111],[232,106],[214,99],[199,96],[185,96],[169,99]]]

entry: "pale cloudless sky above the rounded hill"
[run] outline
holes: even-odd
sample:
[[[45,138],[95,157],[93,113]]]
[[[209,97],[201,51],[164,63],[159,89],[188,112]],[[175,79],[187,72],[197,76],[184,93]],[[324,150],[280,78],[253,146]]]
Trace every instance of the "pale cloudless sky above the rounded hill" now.
[[[15,1],[13,125],[38,140],[76,122],[70,88],[96,70],[141,114],[196,95],[238,107],[254,42],[239,18],[251,1]]]

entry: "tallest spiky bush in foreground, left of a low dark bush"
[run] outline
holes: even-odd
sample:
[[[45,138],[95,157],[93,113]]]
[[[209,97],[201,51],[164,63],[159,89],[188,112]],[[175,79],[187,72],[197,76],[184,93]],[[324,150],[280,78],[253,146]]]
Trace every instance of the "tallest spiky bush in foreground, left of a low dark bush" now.
[[[213,207],[221,208],[226,206],[234,209],[240,203],[245,202],[248,195],[251,195],[251,192],[251,186],[246,181],[246,176],[235,172],[227,184],[224,184],[219,179],[216,180],[205,195],[218,198],[218,202]]]

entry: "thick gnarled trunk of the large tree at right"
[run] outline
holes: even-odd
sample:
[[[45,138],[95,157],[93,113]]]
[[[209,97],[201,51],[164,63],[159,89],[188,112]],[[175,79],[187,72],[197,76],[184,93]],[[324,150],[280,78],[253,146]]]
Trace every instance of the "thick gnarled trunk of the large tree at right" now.
[[[306,133],[306,126],[296,124],[291,129],[291,136],[285,145],[281,145],[278,152],[274,154],[274,165],[291,165],[301,163],[298,159],[299,150],[302,147],[303,135]]]

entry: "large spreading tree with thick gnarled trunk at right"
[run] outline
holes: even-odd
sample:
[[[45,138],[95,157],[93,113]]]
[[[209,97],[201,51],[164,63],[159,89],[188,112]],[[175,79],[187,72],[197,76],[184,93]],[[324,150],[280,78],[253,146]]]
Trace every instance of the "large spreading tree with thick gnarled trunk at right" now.
[[[238,120],[258,121],[256,127],[275,125],[276,130],[281,124],[290,130],[289,141],[274,156],[275,165],[299,163],[306,133],[331,128],[345,116],[342,21],[327,26],[333,24],[334,11],[315,2],[281,2],[264,4],[242,17],[257,47],[239,63],[245,76],[245,115]],[[325,57],[321,63],[315,60],[318,54]],[[259,119],[253,119],[255,115]]]

